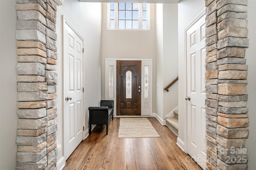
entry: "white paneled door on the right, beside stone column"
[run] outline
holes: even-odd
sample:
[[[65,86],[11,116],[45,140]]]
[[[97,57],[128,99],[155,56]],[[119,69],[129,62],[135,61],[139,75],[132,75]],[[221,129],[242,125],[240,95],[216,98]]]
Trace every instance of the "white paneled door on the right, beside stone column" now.
[[[186,31],[188,154],[206,166],[205,15]]]

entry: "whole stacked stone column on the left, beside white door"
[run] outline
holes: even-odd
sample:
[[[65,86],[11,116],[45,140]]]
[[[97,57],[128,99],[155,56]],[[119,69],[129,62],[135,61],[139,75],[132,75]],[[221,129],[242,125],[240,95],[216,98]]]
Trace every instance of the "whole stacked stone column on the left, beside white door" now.
[[[16,0],[17,170],[56,169],[56,9],[55,0]]]

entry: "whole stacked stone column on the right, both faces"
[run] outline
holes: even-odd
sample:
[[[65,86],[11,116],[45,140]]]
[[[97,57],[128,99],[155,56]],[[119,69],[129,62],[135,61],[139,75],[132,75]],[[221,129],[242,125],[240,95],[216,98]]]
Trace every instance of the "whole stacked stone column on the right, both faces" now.
[[[206,0],[207,170],[248,169],[247,0]]]

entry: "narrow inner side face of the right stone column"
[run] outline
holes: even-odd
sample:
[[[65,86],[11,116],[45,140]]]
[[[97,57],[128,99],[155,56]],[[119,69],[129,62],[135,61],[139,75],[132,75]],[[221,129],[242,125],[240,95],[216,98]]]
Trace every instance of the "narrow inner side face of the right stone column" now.
[[[217,10],[216,0],[206,1],[206,165],[210,169],[217,166],[217,112],[218,112],[218,66],[217,66]],[[208,170],[209,168],[206,167]]]

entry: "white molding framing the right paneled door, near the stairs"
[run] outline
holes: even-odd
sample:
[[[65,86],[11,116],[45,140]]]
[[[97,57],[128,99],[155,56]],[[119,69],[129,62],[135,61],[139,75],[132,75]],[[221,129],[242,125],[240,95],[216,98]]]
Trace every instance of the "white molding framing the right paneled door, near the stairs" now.
[[[188,29],[190,29],[190,27],[192,27],[192,25],[194,25],[198,20],[200,20],[200,18],[202,18],[204,15],[206,14],[206,8],[204,8],[204,10],[202,10],[202,12],[200,12],[198,14],[198,16],[196,16],[196,18],[194,18],[194,20],[192,20],[188,26],[186,26],[186,28],[184,29],[184,94],[185,96],[187,96],[187,36],[186,33],[188,31]],[[185,98],[185,96],[183,96]],[[184,113],[184,141],[182,141],[179,137],[177,138],[177,145],[185,152],[188,153],[188,106],[186,103],[186,100],[183,100],[183,113]],[[182,109],[182,108],[180,108]],[[181,120],[180,120],[181,121]],[[179,124],[181,124],[179,122]]]

